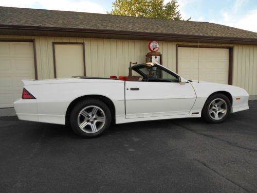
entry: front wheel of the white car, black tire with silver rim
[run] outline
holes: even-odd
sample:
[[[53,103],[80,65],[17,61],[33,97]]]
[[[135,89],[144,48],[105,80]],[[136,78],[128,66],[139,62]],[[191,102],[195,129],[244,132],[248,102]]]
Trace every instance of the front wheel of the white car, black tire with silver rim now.
[[[217,107],[213,106],[213,104],[216,104]],[[222,105],[219,106],[219,104],[222,104]],[[224,111],[225,109],[226,109],[226,113]],[[210,96],[206,100],[204,108],[201,111],[201,116],[211,124],[218,124],[220,122],[223,122],[229,116],[230,111],[231,111],[231,102],[228,99],[228,97],[224,94],[217,93]]]

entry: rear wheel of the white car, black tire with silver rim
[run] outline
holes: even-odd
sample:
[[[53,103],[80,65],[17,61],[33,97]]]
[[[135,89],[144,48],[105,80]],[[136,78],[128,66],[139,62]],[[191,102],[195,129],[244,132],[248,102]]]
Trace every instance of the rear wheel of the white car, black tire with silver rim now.
[[[91,110],[90,108],[92,109],[91,114],[90,112],[87,112],[88,110],[89,111]],[[94,114],[94,116],[99,117],[99,119],[104,118],[104,121],[99,120],[99,122],[96,122],[98,121],[97,118],[94,118],[94,116],[92,116],[94,108],[98,109],[96,112],[97,115]],[[85,113],[82,113],[82,110]],[[99,114],[100,116],[98,116]],[[90,115],[90,116],[87,117],[85,115]],[[80,121],[81,121],[81,124],[80,124]],[[112,115],[107,105],[101,100],[93,99],[93,98],[85,99],[78,102],[76,106],[71,110],[71,113],[70,113],[70,125],[72,130],[77,135],[80,135],[86,138],[93,138],[93,137],[100,136],[103,132],[105,132],[109,128],[111,121],[112,121]],[[84,128],[79,126],[79,124],[83,126],[83,123],[84,125],[86,125]],[[99,124],[102,124],[102,125],[99,126]],[[100,128],[99,130],[96,129],[98,126]],[[90,128],[91,128],[91,131],[90,131]]]

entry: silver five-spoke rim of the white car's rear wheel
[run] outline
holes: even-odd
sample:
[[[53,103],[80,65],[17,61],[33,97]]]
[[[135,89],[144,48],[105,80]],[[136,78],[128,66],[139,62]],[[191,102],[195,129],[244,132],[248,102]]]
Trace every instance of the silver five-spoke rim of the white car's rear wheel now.
[[[97,106],[87,106],[78,115],[78,125],[86,133],[96,133],[105,125],[104,111]]]

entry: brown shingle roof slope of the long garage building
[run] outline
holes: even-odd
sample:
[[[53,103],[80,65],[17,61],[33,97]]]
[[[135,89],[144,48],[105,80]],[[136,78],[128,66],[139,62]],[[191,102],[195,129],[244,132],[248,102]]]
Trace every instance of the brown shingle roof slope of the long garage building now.
[[[0,7],[1,26],[30,26],[70,29],[180,34],[185,36],[252,39],[257,33],[229,26],[193,21],[146,19],[97,13]]]

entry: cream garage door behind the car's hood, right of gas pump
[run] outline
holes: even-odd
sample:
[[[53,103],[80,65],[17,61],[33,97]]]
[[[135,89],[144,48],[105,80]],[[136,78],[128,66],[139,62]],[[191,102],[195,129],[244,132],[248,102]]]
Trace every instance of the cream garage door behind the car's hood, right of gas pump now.
[[[199,80],[228,84],[229,49],[199,48]],[[178,74],[197,80],[198,48],[178,47]]]

